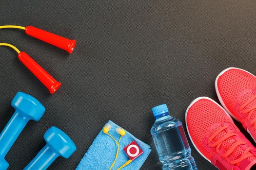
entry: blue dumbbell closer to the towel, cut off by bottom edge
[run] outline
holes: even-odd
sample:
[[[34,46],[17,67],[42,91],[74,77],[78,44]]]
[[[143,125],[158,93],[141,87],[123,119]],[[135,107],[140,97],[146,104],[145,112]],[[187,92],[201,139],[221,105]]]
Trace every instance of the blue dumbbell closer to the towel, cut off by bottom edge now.
[[[46,145],[24,170],[46,170],[57,157],[67,159],[77,150],[70,137],[57,127],[48,129],[43,137]]]

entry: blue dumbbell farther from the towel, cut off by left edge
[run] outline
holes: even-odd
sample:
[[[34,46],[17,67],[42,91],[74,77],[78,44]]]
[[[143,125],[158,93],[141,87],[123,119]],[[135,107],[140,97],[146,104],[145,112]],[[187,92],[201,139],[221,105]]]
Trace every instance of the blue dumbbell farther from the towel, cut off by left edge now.
[[[11,105],[16,109],[12,118],[0,134],[0,170],[9,166],[4,159],[29,120],[39,121],[45,112],[43,105],[32,96],[18,92]]]

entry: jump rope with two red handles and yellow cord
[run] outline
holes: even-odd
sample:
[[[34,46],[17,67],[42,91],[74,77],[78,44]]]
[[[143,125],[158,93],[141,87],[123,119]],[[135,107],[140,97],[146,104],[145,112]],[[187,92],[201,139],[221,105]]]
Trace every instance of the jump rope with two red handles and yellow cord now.
[[[17,25],[3,25],[0,26],[0,29],[4,28],[16,28],[24,30],[26,34],[33,36],[39,40],[47,42],[53,46],[59,47],[65,51],[68,51],[70,54],[74,51],[76,46],[76,40],[70,40],[59,36],[57,34],[53,34],[39,28],[33,26],[17,26]],[[14,49],[18,53],[18,58],[20,61],[39,79],[39,81],[45,85],[50,94],[55,93],[61,83],[55,80],[46,70],[44,70],[35,60],[33,60],[26,52],[18,50],[15,46],[8,43],[0,43],[0,46],[8,46]]]

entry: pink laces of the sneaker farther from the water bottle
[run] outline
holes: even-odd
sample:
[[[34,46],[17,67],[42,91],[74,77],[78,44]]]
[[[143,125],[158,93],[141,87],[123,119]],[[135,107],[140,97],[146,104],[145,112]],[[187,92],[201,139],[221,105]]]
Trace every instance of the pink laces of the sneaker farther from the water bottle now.
[[[241,105],[241,106],[239,107],[239,111],[241,111],[241,110],[242,110],[243,108],[245,108],[250,102],[252,102],[252,101],[255,100],[255,99],[256,99],[256,95],[254,95],[254,96],[253,96],[252,98],[250,98],[247,102],[245,102],[243,105]],[[247,114],[247,113],[249,113],[248,116],[247,116],[247,121],[249,122],[249,125],[250,125],[250,126],[254,125],[254,130],[256,130],[256,118],[252,119],[251,121],[250,121],[250,119],[251,119],[251,116],[252,116],[252,114],[253,114],[253,112],[254,112],[255,109],[256,109],[256,105],[254,105],[253,107],[250,107],[250,108],[245,109],[245,110],[242,111],[242,114]]]

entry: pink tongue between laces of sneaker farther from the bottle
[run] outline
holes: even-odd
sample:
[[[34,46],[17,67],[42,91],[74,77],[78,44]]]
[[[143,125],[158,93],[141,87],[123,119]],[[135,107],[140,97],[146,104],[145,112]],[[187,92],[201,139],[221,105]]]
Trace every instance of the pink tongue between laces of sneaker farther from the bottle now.
[[[256,92],[256,90],[254,90]],[[246,90],[244,91],[240,97],[239,97],[239,103],[240,104],[243,104],[245,102],[247,102],[249,99],[251,99],[256,93],[254,92],[253,90]],[[249,109],[253,106],[256,105],[256,99],[253,100],[252,102],[250,102],[249,104],[247,104],[244,109]],[[249,113],[247,113],[249,114]],[[256,109],[254,110],[254,112],[252,113],[251,115],[251,119],[254,119],[256,118]],[[247,118],[245,117],[242,121],[244,122]]]

